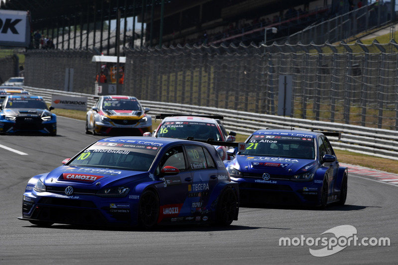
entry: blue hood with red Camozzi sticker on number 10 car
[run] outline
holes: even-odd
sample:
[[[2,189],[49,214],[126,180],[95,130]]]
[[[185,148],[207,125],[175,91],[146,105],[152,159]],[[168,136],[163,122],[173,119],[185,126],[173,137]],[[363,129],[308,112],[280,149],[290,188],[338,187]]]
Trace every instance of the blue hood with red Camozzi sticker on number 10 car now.
[[[45,185],[50,186],[68,186],[82,185],[93,186],[93,188],[102,188],[109,183],[115,185],[125,183],[125,178],[141,179],[147,178],[148,181],[154,180],[148,172],[137,172],[127,170],[112,170],[102,168],[69,167],[60,166],[49,172],[44,179]]]

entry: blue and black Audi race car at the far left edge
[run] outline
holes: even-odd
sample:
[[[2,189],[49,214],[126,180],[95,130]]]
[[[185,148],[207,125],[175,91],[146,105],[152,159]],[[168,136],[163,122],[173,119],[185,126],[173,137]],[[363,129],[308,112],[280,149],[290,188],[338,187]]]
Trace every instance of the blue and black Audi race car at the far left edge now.
[[[57,116],[41,96],[13,94],[0,105],[0,133],[57,135]]]

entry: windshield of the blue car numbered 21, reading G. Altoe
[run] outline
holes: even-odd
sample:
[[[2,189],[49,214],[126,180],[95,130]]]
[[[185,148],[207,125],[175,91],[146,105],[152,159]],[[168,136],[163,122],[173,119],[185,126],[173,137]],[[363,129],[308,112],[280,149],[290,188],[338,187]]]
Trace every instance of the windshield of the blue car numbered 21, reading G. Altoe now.
[[[241,155],[315,159],[313,138],[252,135]]]

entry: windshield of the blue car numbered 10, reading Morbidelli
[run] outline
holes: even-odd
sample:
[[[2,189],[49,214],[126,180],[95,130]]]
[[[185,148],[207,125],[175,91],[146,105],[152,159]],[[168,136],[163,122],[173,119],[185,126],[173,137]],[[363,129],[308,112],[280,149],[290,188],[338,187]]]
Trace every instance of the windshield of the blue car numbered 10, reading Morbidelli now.
[[[161,147],[128,143],[97,142],[68,166],[94,167],[131,171],[149,171]]]

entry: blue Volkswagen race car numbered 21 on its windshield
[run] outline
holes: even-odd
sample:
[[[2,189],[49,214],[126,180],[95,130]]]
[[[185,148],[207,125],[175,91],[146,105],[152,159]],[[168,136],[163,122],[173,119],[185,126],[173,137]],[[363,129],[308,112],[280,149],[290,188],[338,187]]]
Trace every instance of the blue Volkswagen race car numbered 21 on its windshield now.
[[[244,151],[226,162],[231,180],[239,183],[240,203],[325,207],[347,197],[348,171],[340,167],[328,136],[295,130],[258,130]]]

